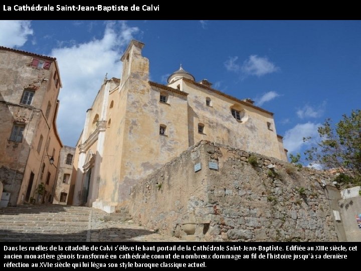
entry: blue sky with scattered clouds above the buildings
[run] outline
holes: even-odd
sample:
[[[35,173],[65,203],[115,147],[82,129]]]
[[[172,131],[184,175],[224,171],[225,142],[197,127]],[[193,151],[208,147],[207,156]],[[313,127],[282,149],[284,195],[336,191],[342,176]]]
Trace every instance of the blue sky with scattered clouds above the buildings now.
[[[0,21],[0,45],[56,57],[58,130],[75,146],[106,73],[120,77],[131,39],[145,44],[150,80],[179,68],[274,112],[290,153],[330,117],[360,108],[361,21]]]

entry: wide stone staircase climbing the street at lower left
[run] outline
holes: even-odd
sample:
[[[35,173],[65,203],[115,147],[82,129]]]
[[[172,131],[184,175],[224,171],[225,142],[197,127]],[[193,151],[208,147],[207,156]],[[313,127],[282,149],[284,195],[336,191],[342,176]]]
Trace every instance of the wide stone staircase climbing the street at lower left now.
[[[65,205],[0,207],[0,241],[87,241],[91,210]]]

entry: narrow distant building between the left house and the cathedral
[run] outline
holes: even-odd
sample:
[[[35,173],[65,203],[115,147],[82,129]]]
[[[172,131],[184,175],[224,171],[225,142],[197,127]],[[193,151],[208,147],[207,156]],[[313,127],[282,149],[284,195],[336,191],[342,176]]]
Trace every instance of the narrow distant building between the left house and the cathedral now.
[[[73,175],[75,148],[64,146],[60,150],[58,175],[54,191],[53,203],[67,205]]]

